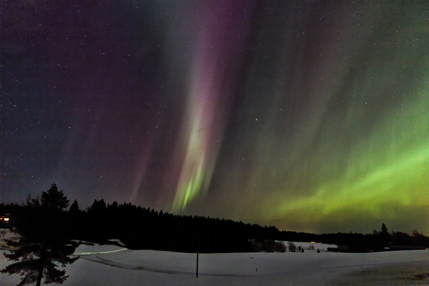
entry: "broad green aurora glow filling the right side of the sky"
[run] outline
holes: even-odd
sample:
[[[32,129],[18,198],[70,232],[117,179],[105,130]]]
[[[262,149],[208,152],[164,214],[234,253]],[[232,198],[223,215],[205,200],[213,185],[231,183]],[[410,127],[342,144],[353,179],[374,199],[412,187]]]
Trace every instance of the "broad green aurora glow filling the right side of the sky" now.
[[[278,23],[281,12],[263,19],[239,127],[199,201],[206,214],[311,232],[429,231],[428,10],[357,10],[339,8],[318,33]],[[302,50],[306,33],[319,52]]]

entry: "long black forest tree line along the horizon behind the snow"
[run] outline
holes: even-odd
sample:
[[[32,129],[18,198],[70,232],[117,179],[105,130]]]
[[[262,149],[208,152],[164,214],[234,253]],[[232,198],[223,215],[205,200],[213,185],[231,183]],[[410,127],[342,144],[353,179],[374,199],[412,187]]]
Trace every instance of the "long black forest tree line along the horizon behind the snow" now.
[[[10,213],[25,219],[26,207],[17,204],[0,205],[0,213]],[[131,203],[107,204],[94,200],[87,211],[78,203],[70,206],[62,221],[70,238],[97,243],[111,243],[119,239],[130,249],[153,249],[179,252],[226,253],[254,251],[253,240],[316,241],[346,246],[350,252],[382,251],[390,244],[429,247],[429,238],[403,232],[312,234],[279,231],[274,226],[236,222],[202,216],[181,216],[155,211]],[[40,216],[39,216],[40,217]],[[43,219],[41,217],[41,219]]]

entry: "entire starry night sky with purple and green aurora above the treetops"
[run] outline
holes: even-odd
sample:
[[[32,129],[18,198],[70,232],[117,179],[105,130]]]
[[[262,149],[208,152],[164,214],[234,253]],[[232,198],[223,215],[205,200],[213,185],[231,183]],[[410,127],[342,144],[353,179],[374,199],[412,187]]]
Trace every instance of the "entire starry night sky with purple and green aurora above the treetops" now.
[[[427,1],[2,1],[0,201],[429,231]]]

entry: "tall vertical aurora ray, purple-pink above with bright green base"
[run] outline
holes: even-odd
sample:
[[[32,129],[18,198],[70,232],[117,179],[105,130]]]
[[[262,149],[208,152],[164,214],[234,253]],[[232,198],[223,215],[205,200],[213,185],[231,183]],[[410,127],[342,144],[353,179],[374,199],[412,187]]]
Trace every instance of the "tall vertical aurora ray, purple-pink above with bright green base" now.
[[[247,9],[248,10],[248,9]],[[190,68],[190,87],[183,119],[184,155],[172,211],[181,211],[210,186],[233,93],[231,80],[247,20],[230,3],[213,1],[199,10],[201,31]]]

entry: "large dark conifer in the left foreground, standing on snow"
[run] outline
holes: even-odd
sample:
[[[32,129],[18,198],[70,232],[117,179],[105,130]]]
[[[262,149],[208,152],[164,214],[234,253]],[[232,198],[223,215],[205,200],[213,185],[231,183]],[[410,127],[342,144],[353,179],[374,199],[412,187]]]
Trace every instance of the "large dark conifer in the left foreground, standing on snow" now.
[[[48,192],[42,193],[42,206],[28,207],[24,216],[17,220],[19,241],[7,241],[14,247],[11,253],[4,253],[11,265],[2,270],[3,273],[23,276],[18,285],[36,282],[63,283],[68,276],[65,270],[57,269],[57,265],[65,267],[79,257],[70,257],[78,246],[68,239],[66,215],[63,208],[68,206],[63,191],[58,192],[56,184],[51,185]]]

